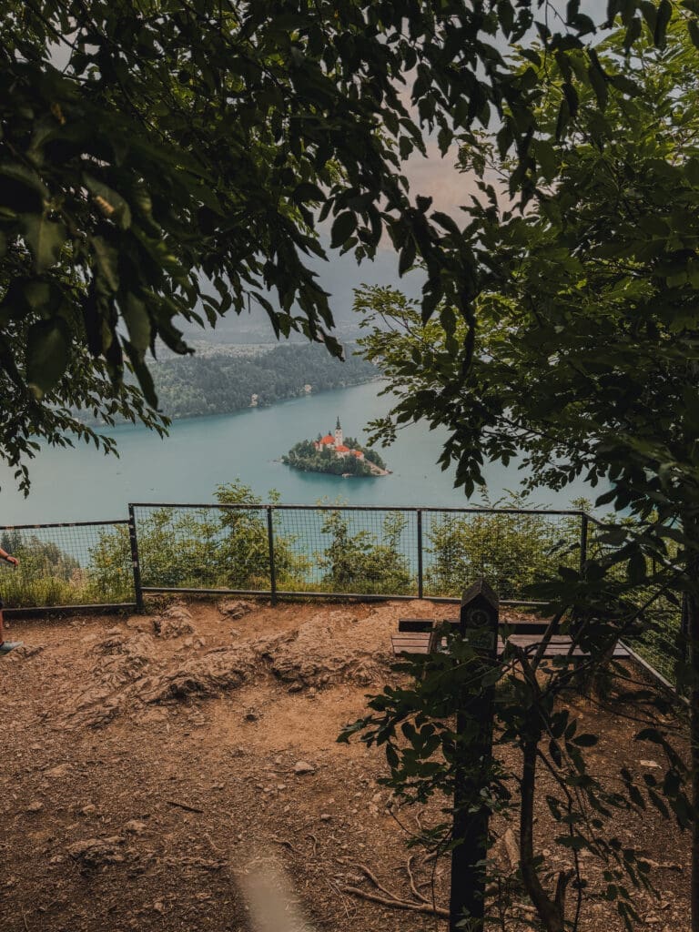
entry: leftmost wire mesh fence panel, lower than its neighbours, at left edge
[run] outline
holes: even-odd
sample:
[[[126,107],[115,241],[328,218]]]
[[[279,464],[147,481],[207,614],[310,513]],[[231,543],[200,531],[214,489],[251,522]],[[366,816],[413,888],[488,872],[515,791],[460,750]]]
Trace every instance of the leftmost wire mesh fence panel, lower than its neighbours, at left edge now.
[[[17,569],[0,563],[8,608],[133,602],[126,521],[3,527],[0,545],[20,560]]]

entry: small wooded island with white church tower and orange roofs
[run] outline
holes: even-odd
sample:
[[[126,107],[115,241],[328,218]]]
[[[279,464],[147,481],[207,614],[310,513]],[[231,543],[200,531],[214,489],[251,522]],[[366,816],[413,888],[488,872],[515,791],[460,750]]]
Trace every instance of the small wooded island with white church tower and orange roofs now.
[[[301,440],[289,450],[281,462],[304,473],[331,473],[350,476],[388,475],[390,470],[376,450],[362,446],[353,437],[346,437],[337,418],[334,433],[318,434],[316,440]]]

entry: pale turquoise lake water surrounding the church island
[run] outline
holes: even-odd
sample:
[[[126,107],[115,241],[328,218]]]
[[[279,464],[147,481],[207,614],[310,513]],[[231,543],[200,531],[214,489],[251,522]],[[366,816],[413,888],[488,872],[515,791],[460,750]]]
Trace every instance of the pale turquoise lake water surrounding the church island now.
[[[298,440],[333,432],[337,417],[346,434],[361,440],[366,422],[388,409],[388,399],[377,397],[380,388],[373,382],[267,408],[174,421],[163,440],[144,427],[120,426],[109,431],[117,438],[119,459],[85,445],[44,447],[31,465],[28,499],[17,491],[12,472],[0,468],[0,524],[113,520],[126,516],[129,501],[210,502],[217,485],[237,477],[263,500],[269,489],[278,489],[285,504],[321,499],[358,505],[482,504],[477,493],[471,502],[466,500],[454,488],[454,473],[435,465],[445,433],[422,425],[405,428],[394,445],[380,450],[390,476],[343,479],[300,473],[279,461]],[[486,475],[490,498],[497,500],[506,489],[519,487],[522,473],[511,464],[507,469],[488,466]],[[570,500],[581,495],[595,497],[579,482],[564,494],[543,489],[531,502],[569,508]]]

